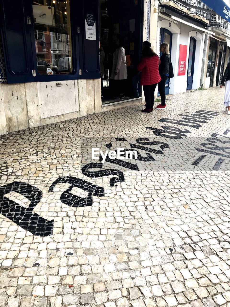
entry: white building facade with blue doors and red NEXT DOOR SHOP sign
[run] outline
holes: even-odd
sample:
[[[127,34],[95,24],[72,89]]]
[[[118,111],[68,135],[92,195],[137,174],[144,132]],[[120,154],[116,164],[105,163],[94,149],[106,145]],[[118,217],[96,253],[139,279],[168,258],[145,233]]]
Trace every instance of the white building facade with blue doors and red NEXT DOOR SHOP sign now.
[[[168,94],[219,85],[223,75],[229,23],[204,2],[159,1],[158,42],[169,43],[174,67],[174,78],[166,84]]]

